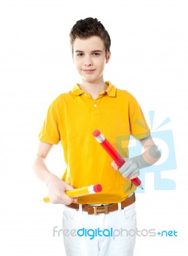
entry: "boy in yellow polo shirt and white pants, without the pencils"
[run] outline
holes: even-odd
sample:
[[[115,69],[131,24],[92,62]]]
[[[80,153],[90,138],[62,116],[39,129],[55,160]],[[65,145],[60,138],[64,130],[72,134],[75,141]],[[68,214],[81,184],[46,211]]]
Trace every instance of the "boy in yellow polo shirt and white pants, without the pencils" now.
[[[154,164],[160,152],[136,99],[103,79],[111,44],[103,24],[92,18],[78,20],[69,36],[81,83],[50,105],[33,168],[47,184],[50,202],[64,205],[63,229],[79,230],[76,235],[64,234],[66,255],[131,256],[136,237],[136,186],[130,180],[138,177],[140,168]],[[126,159],[119,170],[93,138],[96,129]],[[144,152],[128,159],[127,148],[122,148],[119,138],[124,136],[127,147],[130,134],[140,140]],[[62,179],[45,164],[52,145],[59,141],[66,162]],[[64,193],[91,184],[101,184],[101,193],[74,200]],[[131,230],[132,234],[127,235]]]

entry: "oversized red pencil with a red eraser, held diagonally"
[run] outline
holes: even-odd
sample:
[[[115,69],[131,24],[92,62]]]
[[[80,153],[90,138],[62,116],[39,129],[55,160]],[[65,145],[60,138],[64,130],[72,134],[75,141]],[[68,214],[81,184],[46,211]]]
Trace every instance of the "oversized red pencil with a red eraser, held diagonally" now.
[[[110,142],[106,140],[105,136],[101,134],[99,130],[94,131],[92,134],[119,167],[126,163],[126,161],[118,154],[115,148],[112,147]],[[141,186],[141,180],[138,177],[132,179],[131,182],[133,182],[133,184],[138,188],[143,189]]]

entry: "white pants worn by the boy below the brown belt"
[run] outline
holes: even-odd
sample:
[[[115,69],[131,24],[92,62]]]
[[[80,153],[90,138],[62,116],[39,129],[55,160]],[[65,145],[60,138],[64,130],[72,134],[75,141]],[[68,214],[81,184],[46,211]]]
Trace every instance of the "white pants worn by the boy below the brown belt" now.
[[[136,239],[135,203],[108,214],[89,215],[64,207],[66,256],[133,256]]]

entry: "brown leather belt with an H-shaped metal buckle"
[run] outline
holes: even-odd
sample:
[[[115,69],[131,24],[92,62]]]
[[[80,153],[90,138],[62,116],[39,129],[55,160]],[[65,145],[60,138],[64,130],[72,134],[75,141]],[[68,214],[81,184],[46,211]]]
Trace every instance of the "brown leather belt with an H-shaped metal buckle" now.
[[[121,202],[121,209],[124,209],[125,207],[133,204],[135,202],[135,194],[126,198],[123,202]],[[79,204],[69,204],[66,205],[72,209],[75,209],[76,211],[79,210]],[[99,213],[108,213],[118,210],[118,204],[108,204],[108,205],[100,205],[100,206],[93,206],[88,204],[82,205],[82,211],[87,212],[88,214],[99,214]]]

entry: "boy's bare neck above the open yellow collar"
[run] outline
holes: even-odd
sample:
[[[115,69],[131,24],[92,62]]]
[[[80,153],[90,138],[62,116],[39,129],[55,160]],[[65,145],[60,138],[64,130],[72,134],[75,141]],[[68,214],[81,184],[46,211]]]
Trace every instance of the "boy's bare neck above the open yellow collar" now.
[[[92,99],[97,99],[98,95],[105,91],[108,86],[105,84],[105,81],[94,81],[94,82],[87,82],[82,80],[82,84],[80,84],[80,88],[84,92],[88,92]]]

